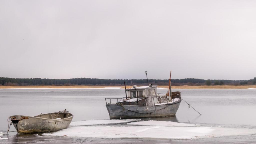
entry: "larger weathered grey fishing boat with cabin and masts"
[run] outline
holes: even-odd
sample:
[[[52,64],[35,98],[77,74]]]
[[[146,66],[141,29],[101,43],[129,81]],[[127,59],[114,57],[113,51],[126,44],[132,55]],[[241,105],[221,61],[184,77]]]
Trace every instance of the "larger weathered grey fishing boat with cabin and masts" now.
[[[147,75],[147,71],[145,72]],[[182,99],[179,91],[172,92],[171,73],[172,71],[170,72],[168,93],[165,95],[163,93],[157,93],[157,86],[150,84],[140,87],[133,85],[129,89],[126,89],[125,86],[125,97],[105,98],[109,118],[125,119],[175,116]]]

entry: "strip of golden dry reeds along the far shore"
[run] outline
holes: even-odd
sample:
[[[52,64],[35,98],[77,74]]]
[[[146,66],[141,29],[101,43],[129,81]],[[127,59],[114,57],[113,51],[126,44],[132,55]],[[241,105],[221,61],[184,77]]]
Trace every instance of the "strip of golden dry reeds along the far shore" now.
[[[132,86],[126,86],[132,88]],[[158,86],[160,89],[168,89],[168,86]],[[124,89],[124,86],[0,86],[0,89]],[[172,89],[256,89],[256,85],[233,86],[172,86]]]

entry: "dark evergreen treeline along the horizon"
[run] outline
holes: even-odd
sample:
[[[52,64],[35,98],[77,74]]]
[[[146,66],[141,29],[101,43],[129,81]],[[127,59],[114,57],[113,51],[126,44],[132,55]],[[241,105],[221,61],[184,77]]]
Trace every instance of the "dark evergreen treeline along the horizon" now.
[[[147,85],[146,79],[98,79],[98,78],[70,78],[70,79],[45,79],[45,78],[6,78],[0,77],[0,85],[4,86],[32,86],[32,85],[99,85],[99,86],[121,86],[126,85]],[[172,85],[255,85],[256,77],[250,80],[204,80],[197,78],[172,79]],[[168,79],[149,79],[149,84],[168,85]]]

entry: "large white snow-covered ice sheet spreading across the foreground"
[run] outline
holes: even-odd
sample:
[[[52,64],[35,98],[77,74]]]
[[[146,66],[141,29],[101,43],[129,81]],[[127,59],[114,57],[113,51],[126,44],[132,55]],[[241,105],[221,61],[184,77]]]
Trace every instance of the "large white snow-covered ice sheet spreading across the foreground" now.
[[[134,122],[136,124],[136,122]],[[134,124],[133,123],[133,124]],[[136,125],[141,125],[137,122]],[[163,123],[163,124],[160,124]],[[143,121],[151,126],[77,126],[43,133],[43,136],[67,136],[83,138],[159,138],[159,139],[198,139],[231,135],[255,134],[256,129],[191,126],[178,122]],[[159,125],[159,126],[157,126]],[[172,125],[172,126],[170,126]],[[183,126],[182,126],[183,125]]]

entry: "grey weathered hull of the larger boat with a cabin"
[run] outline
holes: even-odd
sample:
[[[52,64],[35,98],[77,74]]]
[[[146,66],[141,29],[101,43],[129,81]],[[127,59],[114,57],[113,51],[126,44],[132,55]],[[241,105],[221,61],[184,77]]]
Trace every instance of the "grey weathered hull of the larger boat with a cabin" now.
[[[107,104],[110,119],[125,118],[149,118],[149,117],[170,117],[175,116],[181,99],[174,103],[162,106],[132,106]]]

